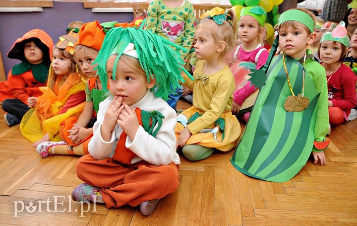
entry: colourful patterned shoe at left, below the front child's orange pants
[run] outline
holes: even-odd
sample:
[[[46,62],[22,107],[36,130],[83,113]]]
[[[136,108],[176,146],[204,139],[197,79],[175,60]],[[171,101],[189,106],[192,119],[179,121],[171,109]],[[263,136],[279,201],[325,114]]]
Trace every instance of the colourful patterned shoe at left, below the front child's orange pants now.
[[[77,202],[90,201],[104,203],[102,199],[102,189],[90,186],[86,183],[80,184],[73,189],[72,199]]]

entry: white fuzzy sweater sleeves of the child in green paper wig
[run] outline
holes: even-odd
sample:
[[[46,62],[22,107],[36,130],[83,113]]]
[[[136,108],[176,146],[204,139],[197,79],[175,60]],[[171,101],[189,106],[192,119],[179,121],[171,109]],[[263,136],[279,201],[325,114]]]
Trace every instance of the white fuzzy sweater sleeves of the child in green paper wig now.
[[[89,142],[88,150],[96,159],[112,157],[122,133],[122,128],[117,124],[114,131],[112,131],[111,140],[106,142],[103,140],[100,132],[105,112],[112,100],[113,97],[110,96],[99,104],[97,121],[93,126],[93,137]],[[126,137],[126,148],[136,154],[131,163],[145,160],[155,166],[168,165],[171,162],[179,164],[180,160],[179,154],[176,152],[175,136],[176,111],[163,99],[157,98],[151,91],[148,91],[138,102],[130,106],[130,108],[136,107],[149,112],[152,110],[159,111],[165,118],[163,118],[163,124],[155,138],[148,134],[142,126],[139,126],[133,141],[131,141],[129,136]],[[157,125],[155,126],[156,128]]]

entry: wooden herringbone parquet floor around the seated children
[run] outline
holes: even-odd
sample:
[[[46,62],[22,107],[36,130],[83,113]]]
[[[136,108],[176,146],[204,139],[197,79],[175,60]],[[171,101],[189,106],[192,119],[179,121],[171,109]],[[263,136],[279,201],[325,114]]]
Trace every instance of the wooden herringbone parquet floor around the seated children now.
[[[178,110],[187,106],[180,102]],[[357,120],[332,128],[326,166],[308,161],[285,183],[241,174],[231,165],[233,151],[197,162],[182,157],[178,189],[146,217],[138,207],[72,201],[79,157],[40,157],[0,113],[0,225],[357,225]]]

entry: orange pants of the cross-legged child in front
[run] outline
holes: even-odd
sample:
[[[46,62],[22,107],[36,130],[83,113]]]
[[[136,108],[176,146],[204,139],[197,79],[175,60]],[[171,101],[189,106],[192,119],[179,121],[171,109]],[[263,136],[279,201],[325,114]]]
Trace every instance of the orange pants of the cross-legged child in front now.
[[[112,158],[98,160],[87,154],[78,159],[76,171],[85,183],[102,188],[108,208],[161,199],[179,186],[179,165],[173,162],[154,166],[141,161],[123,166]]]

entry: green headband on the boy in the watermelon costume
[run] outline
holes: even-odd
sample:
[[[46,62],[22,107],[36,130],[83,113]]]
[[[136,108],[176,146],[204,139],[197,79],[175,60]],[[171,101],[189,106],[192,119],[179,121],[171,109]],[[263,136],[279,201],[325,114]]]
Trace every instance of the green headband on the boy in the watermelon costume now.
[[[306,12],[298,9],[291,9],[283,12],[279,17],[279,26],[290,20],[304,24],[311,31],[311,33],[314,31],[315,23],[311,16],[309,16]]]

